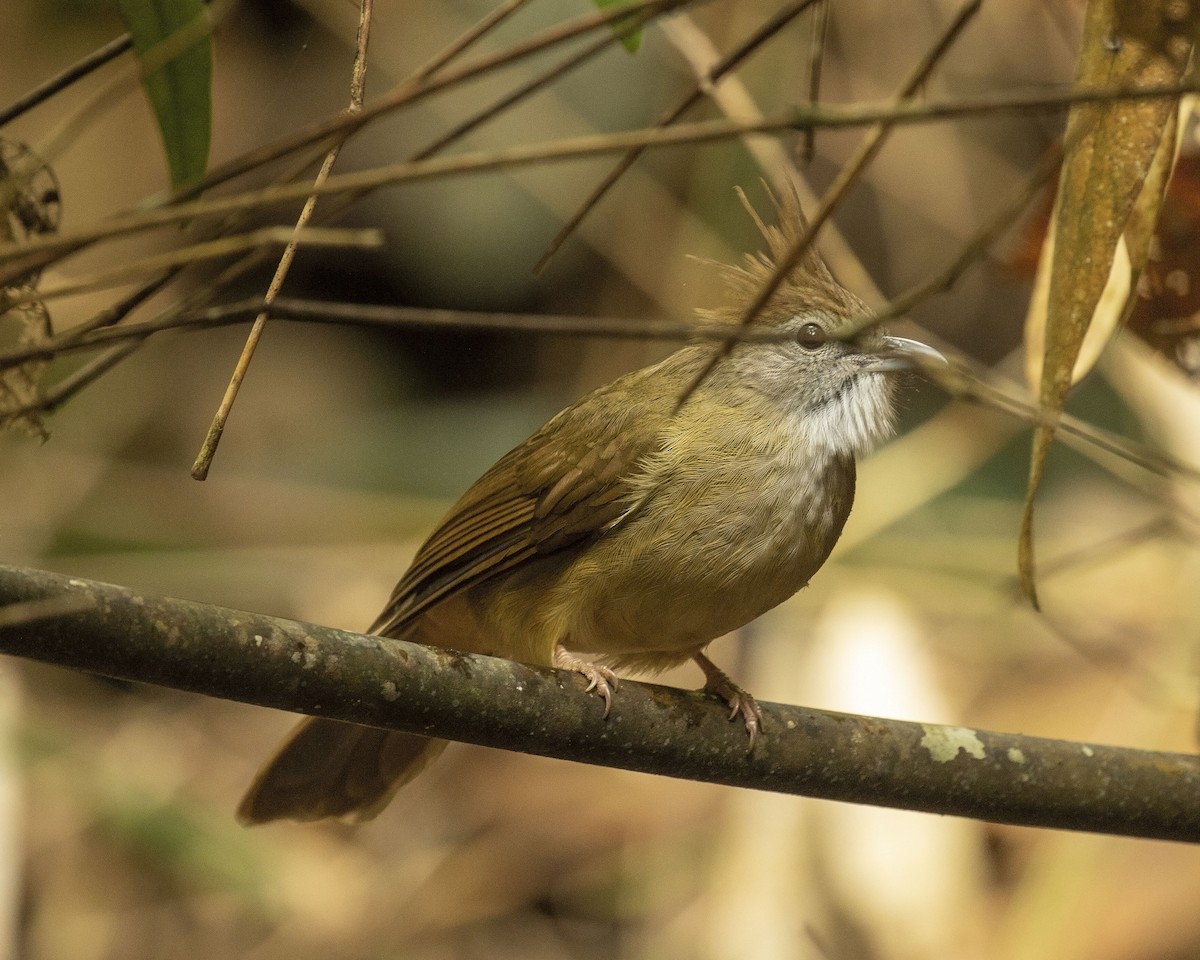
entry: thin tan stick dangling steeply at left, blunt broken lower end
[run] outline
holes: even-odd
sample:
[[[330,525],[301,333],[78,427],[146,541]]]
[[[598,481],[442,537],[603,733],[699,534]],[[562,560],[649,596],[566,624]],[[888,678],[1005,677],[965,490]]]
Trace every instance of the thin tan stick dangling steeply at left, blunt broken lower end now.
[[[371,38],[371,16],[373,10],[373,0],[361,0],[361,6],[359,8],[359,32],[358,41],[355,44],[354,54],[354,67],[350,71],[350,103],[346,108],[347,113],[350,115],[361,113],[362,101],[366,96],[366,71],[367,71],[367,43]],[[346,134],[348,137],[349,133]],[[329,152],[325,154],[325,160],[320,164],[320,169],[317,172],[317,176],[313,180],[314,187],[320,187],[334,172],[334,164],[337,162],[337,155],[342,151],[342,144],[346,143],[346,137],[341,137],[332,146],[329,148]],[[317,206],[317,194],[312,193],[305,200],[304,209],[300,211],[300,216],[296,218],[295,232],[299,233],[304,229],[305,224],[312,217],[312,212]],[[234,367],[233,374],[229,377],[229,384],[226,386],[224,396],[221,398],[221,406],[217,407],[217,412],[212,418],[212,422],[209,425],[209,432],[204,437],[204,443],[200,444],[200,451],[196,456],[196,462],[192,464],[192,479],[204,480],[209,475],[209,468],[212,466],[212,457],[217,452],[217,445],[221,443],[221,434],[224,433],[226,422],[229,420],[229,413],[233,410],[234,401],[238,398],[238,391],[241,389],[242,380],[246,379],[246,372],[250,370],[250,362],[254,359],[254,350],[258,348],[258,342],[263,337],[263,330],[266,326],[266,311],[270,308],[271,302],[278,296],[280,289],[283,287],[283,281],[288,276],[288,271],[292,269],[292,264],[295,260],[298,250],[296,238],[288,242],[287,247],[283,250],[283,256],[280,257],[280,263],[275,268],[275,276],[271,277],[271,283],[266,288],[266,306],[262,313],[254,318],[253,325],[250,328],[250,335],[246,337],[246,343],[241,348],[241,355],[238,358],[238,364]]]

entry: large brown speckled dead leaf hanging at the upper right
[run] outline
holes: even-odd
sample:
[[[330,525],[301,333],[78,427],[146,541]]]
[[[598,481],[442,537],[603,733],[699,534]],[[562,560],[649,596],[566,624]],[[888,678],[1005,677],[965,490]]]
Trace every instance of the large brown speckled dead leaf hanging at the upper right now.
[[[1178,0],[1090,0],[1076,86],[1126,90],[1177,84],[1192,54],[1198,19],[1194,5]],[[1033,433],[1018,547],[1021,588],[1034,606],[1033,498],[1055,420],[1123,236],[1132,268],[1140,271],[1145,265],[1174,157],[1176,107],[1177,101],[1168,98],[1080,104],[1067,121],[1069,152],[1058,181],[1038,383],[1045,420]],[[1124,316],[1123,302],[1108,314],[1114,330],[1118,316]]]

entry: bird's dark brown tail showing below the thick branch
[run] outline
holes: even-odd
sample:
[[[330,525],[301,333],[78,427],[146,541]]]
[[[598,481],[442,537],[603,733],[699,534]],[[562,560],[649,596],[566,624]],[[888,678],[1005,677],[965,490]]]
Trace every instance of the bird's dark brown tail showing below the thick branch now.
[[[308,718],[259,770],[238,820],[371,820],[445,748],[415,733]]]

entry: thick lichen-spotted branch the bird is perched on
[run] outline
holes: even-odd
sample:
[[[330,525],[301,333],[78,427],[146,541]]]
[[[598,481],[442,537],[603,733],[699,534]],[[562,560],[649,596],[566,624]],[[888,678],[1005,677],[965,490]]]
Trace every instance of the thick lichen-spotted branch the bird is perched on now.
[[[0,604],[82,598],[0,652],[227,700],[528,754],[998,823],[1200,842],[1200,757],[763,703],[764,736],[702,692],[144,596],[0,565]],[[55,613],[58,616],[55,616]]]

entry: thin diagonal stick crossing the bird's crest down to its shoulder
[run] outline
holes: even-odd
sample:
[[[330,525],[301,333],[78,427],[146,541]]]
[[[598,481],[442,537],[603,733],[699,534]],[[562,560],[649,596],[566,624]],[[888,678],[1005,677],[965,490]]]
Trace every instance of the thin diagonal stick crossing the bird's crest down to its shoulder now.
[[[917,68],[912,72],[912,76],[910,76],[907,82],[900,89],[896,102],[913,96],[925,84],[929,79],[929,74],[934,71],[934,67],[937,66],[946,52],[950,48],[954,41],[958,40],[959,34],[979,11],[982,4],[983,0],[967,0],[967,2],[962,5],[958,16],[950,22],[949,26],[942,31],[937,43],[935,43],[929,53],[925,54],[922,61],[917,65]],[[762,313],[763,307],[766,307],[770,301],[770,298],[775,295],[775,290],[779,289],[784,280],[792,272],[792,270],[796,269],[804,254],[812,248],[812,244],[816,241],[816,235],[821,229],[821,226],[830,217],[838,204],[841,203],[850,188],[858,181],[863,170],[866,169],[866,166],[882,149],[883,142],[892,132],[893,126],[893,122],[883,121],[876,124],[870,131],[868,131],[853,156],[841,168],[833,184],[829,185],[829,188],[821,198],[821,204],[812,214],[808,227],[800,233],[796,242],[792,244],[791,250],[779,258],[779,263],[775,265],[774,272],[758,290],[757,296],[750,301],[750,305],[742,314],[739,320],[740,325],[745,326],[754,323],[758,314]],[[704,382],[704,378],[713,372],[716,365],[730,355],[733,350],[734,343],[736,341],[730,340],[722,344],[720,349],[713,353],[709,361],[704,364],[692,382],[684,389],[676,404],[677,410],[688,402],[688,397],[696,391],[701,383]]]

